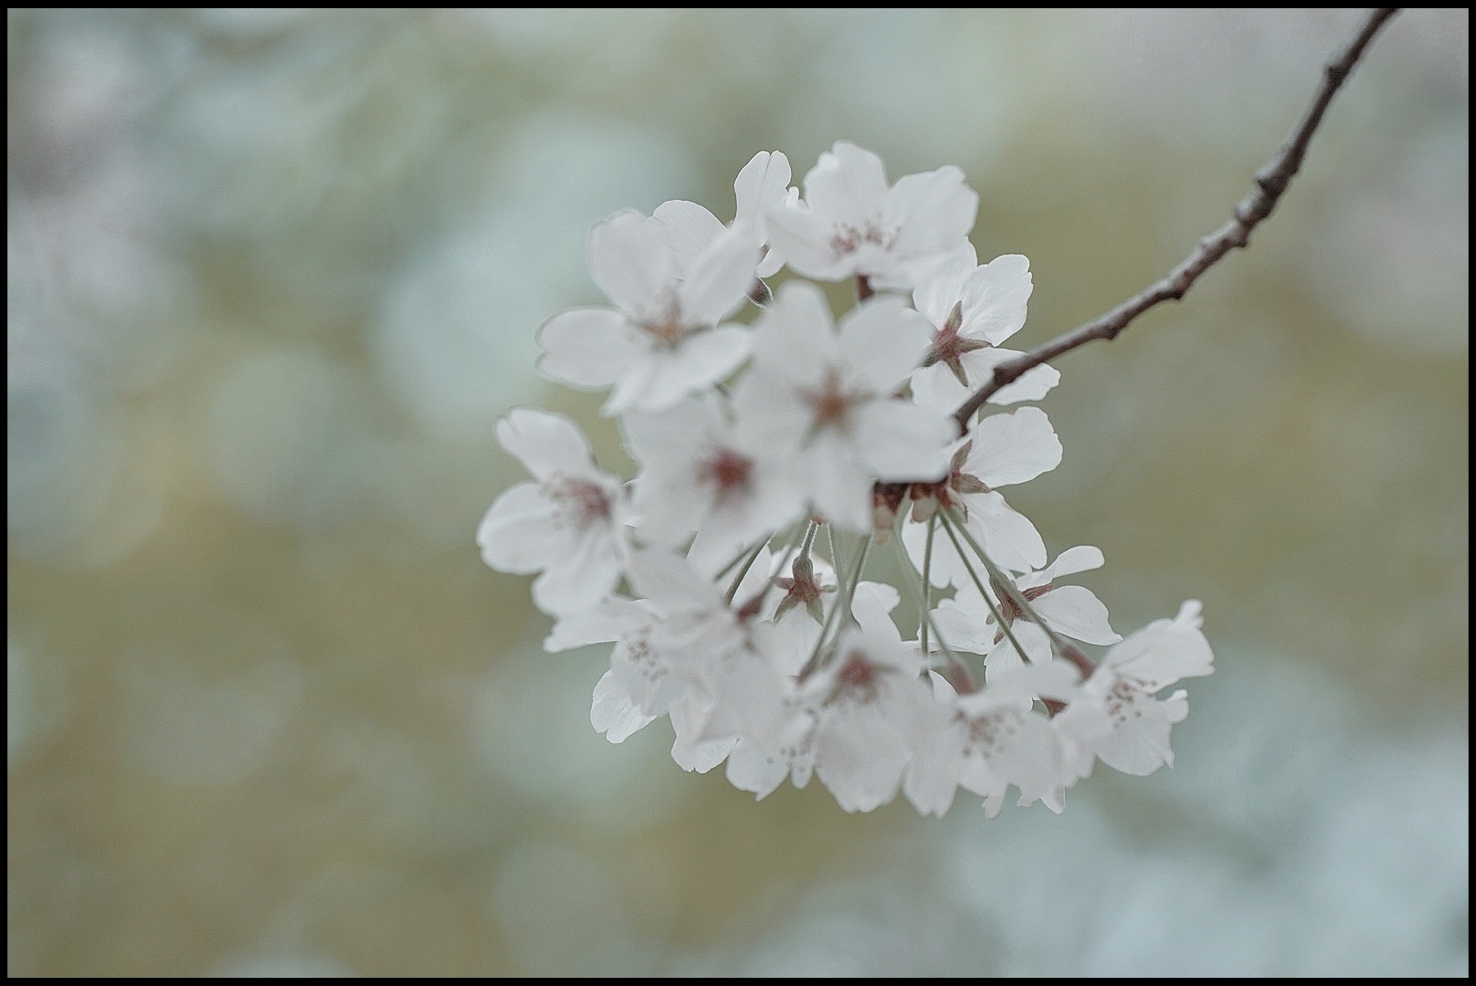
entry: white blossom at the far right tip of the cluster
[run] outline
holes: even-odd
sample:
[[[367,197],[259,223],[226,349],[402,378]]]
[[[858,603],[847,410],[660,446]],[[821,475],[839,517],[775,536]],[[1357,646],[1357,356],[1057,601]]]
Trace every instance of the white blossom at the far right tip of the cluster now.
[[[1169,729],[1188,714],[1188,692],[1181,688],[1162,701],[1157,694],[1182,678],[1215,673],[1203,623],[1199,601],[1190,599],[1172,620],[1154,620],[1107,651],[1080,698],[1054,720],[1076,742],[1079,776],[1091,772],[1094,754],[1139,776],[1173,766]]]

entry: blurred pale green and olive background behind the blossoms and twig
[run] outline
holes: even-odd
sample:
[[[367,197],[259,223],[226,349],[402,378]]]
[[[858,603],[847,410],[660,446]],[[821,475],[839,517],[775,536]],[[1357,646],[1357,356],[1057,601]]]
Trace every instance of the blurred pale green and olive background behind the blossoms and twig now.
[[[7,15],[7,971],[1469,971],[1469,12],[1401,13],[1249,251],[1063,357],[1010,493],[1119,630],[1204,601],[1178,763],[1060,818],[756,803],[472,536],[589,226],[850,139],[958,164],[1038,344],[1215,229],[1359,21]],[[629,475],[629,471],[626,472]]]

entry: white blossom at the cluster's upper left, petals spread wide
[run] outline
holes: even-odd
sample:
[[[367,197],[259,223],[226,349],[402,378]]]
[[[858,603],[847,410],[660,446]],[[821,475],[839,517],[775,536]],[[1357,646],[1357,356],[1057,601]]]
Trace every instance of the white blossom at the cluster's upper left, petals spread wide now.
[[[571,308],[539,331],[539,370],[583,390],[614,387],[607,415],[667,410],[748,356],[748,331],[719,322],[748,297],[757,246],[726,230],[685,257],[672,241],[635,211],[598,223],[589,267],[614,308]]]

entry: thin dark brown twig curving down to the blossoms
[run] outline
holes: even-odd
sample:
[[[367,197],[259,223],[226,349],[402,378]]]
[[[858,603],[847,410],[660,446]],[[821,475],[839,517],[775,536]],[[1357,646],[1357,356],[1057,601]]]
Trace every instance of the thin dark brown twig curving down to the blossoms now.
[[[1128,298],[1111,311],[1098,316],[1091,322],[1066,332],[1064,335],[1058,335],[1049,342],[1030,350],[1018,359],[1013,359],[1008,363],[996,366],[993,375],[989,378],[989,382],[976,390],[968,400],[965,400],[959,409],[953,412],[959,431],[962,432],[968,430],[968,421],[974,416],[974,412],[977,412],[1001,387],[1013,384],[1027,370],[1035,369],[1041,363],[1052,360],[1063,353],[1069,353],[1079,345],[1085,345],[1092,339],[1110,341],[1117,338],[1117,335],[1139,314],[1156,304],[1169,301],[1170,298],[1178,301],[1188,292],[1194,282],[1199,280],[1199,276],[1209,270],[1221,257],[1228,254],[1231,249],[1244,246],[1250,242],[1250,230],[1271,216],[1271,210],[1275,208],[1277,201],[1281,198],[1283,192],[1287,190],[1287,186],[1292,185],[1292,179],[1302,167],[1302,158],[1306,155],[1306,146],[1312,140],[1312,134],[1317,131],[1318,124],[1322,123],[1322,114],[1327,111],[1327,105],[1333,102],[1333,96],[1343,84],[1343,80],[1348,78],[1349,72],[1353,71],[1353,65],[1368,47],[1368,43],[1373,41],[1374,34],[1379,32],[1379,28],[1382,28],[1384,21],[1392,18],[1396,10],[1398,7],[1379,7],[1377,10],[1370,12],[1368,18],[1358,30],[1358,34],[1355,34],[1353,38],[1343,46],[1343,49],[1339,50],[1331,61],[1327,62],[1322,68],[1322,84],[1312,96],[1312,102],[1302,114],[1302,120],[1299,120],[1296,127],[1292,128],[1292,133],[1287,134],[1287,139],[1281,143],[1281,148],[1275,152],[1275,155],[1272,155],[1271,161],[1268,161],[1265,167],[1256,173],[1256,185],[1235,207],[1230,221],[1209,236],[1200,239],[1199,244],[1194,245],[1194,249],[1190,251],[1190,255],[1185,257],[1178,267],[1170,270],[1160,280]]]

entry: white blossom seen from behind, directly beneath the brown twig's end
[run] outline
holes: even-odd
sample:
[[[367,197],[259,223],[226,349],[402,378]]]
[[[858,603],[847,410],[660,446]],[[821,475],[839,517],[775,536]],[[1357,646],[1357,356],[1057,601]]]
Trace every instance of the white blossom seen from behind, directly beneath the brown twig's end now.
[[[1007,254],[980,266],[967,242],[922,280],[912,303],[933,323],[934,334],[921,369],[912,373],[912,399],[952,413],[996,366],[1023,356],[998,347],[1024,326],[1030,289],[1029,260]],[[1041,400],[1060,381],[1061,373],[1042,363],[999,388],[989,403]]]

